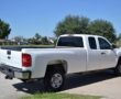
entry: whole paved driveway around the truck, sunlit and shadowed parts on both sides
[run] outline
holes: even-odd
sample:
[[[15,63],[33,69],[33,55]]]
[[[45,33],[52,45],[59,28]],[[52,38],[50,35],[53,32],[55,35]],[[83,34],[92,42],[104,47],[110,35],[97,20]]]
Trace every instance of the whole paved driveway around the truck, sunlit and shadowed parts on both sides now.
[[[16,99],[24,95],[33,95],[36,91],[44,91],[42,81],[23,84],[18,79],[4,79],[4,75],[0,74],[0,99]],[[62,92],[121,99],[121,77],[116,77],[110,72],[69,75]]]

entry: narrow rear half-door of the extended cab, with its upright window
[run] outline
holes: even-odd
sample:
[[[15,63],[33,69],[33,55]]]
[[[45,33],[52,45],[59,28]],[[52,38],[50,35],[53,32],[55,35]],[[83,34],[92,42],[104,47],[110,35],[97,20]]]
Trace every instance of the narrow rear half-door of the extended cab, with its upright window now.
[[[96,38],[89,36],[87,50],[87,70],[96,70],[100,68],[100,51],[98,50]]]

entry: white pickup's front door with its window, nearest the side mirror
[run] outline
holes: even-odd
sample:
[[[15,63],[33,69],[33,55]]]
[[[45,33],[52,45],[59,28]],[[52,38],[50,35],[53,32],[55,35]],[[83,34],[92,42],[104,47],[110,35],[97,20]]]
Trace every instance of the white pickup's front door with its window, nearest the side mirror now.
[[[102,37],[98,37],[100,52],[100,68],[110,68],[117,65],[117,54],[110,43]]]

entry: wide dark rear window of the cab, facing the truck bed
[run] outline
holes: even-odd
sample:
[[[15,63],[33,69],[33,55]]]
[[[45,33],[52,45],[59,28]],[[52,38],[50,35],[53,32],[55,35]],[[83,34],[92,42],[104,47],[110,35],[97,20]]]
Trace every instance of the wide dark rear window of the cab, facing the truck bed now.
[[[82,37],[76,36],[61,37],[57,46],[84,47]]]

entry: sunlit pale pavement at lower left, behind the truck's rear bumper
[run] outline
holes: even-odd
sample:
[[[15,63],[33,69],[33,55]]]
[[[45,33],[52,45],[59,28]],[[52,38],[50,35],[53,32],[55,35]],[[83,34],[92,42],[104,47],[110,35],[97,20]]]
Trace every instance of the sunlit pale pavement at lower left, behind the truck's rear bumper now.
[[[21,82],[18,79],[7,80],[4,75],[0,73],[0,99],[16,99],[20,96],[23,96],[24,92],[19,91],[13,87],[14,84]]]

